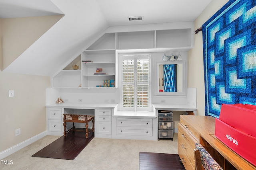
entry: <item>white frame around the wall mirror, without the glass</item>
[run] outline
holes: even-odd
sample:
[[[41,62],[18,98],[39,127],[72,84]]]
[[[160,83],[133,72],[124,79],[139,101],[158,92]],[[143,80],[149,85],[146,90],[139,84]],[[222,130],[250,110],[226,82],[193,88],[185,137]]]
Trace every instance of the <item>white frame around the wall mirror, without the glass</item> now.
[[[186,96],[187,94],[187,68],[186,62],[182,61],[165,61],[165,62],[157,62],[157,76],[156,76],[156,95],[157,96]],[[160,64],[182,64],[182,92],[159,92],[159,65]]]

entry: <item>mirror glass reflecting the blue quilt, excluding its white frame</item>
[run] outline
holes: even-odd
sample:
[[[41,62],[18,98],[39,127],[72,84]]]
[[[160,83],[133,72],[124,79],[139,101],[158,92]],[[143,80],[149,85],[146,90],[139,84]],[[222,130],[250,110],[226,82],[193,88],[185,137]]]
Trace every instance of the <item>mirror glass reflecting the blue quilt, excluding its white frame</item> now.
[[[159,92],[182,92],[182,64],[159,64]]]

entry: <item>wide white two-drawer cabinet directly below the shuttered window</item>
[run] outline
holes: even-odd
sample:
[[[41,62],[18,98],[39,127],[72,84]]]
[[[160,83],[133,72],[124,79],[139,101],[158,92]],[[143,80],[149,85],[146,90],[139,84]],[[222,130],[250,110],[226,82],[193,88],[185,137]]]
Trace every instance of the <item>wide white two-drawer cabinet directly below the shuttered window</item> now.
[[[116,118],[116,135],[152,136],[153,119]]]

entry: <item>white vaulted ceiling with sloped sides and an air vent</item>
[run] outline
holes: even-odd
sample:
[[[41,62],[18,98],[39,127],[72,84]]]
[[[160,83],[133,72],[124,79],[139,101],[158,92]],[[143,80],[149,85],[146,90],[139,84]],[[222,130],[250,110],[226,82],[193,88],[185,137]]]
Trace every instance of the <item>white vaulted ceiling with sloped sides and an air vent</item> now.
[[[16,56],[3,71],[52,76],[90,46],[93,39],[108,27],[194,21],[210,2],[211,0],[0,0],[2,19],[63,15],[42,36],[36,37],[35,42]],[[130,17],[142,17],[142,20],[129,21]],[[3,39],[2,45],[4,43]],[[3,59],[6,57],[8,58],[2,56]]]

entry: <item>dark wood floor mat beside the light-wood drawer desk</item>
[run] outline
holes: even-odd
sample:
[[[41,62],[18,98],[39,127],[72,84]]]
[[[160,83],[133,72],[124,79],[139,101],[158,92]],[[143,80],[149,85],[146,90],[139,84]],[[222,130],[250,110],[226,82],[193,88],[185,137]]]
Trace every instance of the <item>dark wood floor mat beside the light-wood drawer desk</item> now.
[[[178,154],[140,152],[140,170],[185,170]]]

